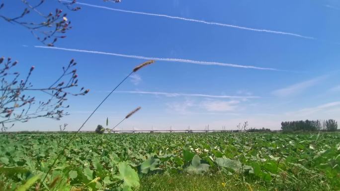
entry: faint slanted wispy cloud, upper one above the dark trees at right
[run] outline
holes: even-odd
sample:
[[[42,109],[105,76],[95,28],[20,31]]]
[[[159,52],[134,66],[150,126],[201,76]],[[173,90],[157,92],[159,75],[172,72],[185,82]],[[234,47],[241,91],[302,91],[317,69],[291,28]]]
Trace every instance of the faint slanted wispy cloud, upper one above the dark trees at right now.
[[[293,96],[298,95],[308,89],[309,87],[312,87],[325,79],[325,76],[317,77],[311,80],[299,82],[293,85],[290,85],[288,87],[277,89],[272,92],[273,95],[278,97],[287,97],[287,96]]]

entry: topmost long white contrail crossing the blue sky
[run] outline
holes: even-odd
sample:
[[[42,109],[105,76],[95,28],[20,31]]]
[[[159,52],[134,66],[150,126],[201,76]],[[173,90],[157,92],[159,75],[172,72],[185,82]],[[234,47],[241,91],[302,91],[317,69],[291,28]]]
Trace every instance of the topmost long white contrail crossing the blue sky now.
[[[71,2],[69,0],[61,0],[61,1]],[[204,20],[196,20],[196,19],[190,19],[190,18],[184,18],[184,17],[178,17],[178,16],[169,16],[169,15],[165,15],[165,14],[154,14],[154,13],[147,13],[147,12],[123,10],[123,9],[110,8],[110,7],[107,7],[107,6],[99,6],[99,5],[88,4],[88,3],[83,3],[83,2],[76,2],[76,3],[81,4],[81,5],[85,5],[85,6],[90,6],[90,7],[103,8],[103,9],[126,12],[126,13],[143,14],[143,15],[149,15],[149,16],[160,16],[160,17],[166,17],[166,18],[170,18],[170,19],[178,19],[178,20],[198,22],[198,23],[203,23],[203,24],[217,25],[217,26],[223,26],[223,27],[231,27],[231,28],[237,28],[237,29],[242,29],[242,30],[274,33],[274,34],[280,34],[280,35],[290,35],[290,36],[295,36],[295,37],[300,37],[300,38],[305,38],[305,39],[315,39],[314,37],[308,37],[308,36],[303,36],[303,35],[299,35],[299,34],[295,34],[295,33],[282,32],[282,31],[249,28],[249,27],[243,27],[243,26],[237,26],[237,25],[231,25],[231,24],[224,24],[224,23],[218,23],[218,22],[208,22],[208,21],[204,21]]]

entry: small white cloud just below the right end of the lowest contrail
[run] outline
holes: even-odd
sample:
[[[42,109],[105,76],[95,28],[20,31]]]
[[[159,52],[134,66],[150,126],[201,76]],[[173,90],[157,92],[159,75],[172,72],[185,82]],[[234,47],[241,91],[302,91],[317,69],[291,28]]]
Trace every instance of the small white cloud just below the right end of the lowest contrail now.
[[[209,112],[235,111],[240,101],[204,101],[200,106]]]

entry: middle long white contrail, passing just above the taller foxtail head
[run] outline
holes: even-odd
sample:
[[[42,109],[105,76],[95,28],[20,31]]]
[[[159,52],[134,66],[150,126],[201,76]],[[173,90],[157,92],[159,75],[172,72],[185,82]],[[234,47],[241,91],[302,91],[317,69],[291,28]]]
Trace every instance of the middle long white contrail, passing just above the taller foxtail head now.
[[[226,63],[218,63],[218,62],[192,61],[192,60],[185,60],[185,59],[153,58],[153,57],[123,55],[123,54],[117,54],[117,53],[105,53],[105,52],[99,52],[99,51],[87,51],[87,50],[67,49],[67,48],[58,48],[58,47],[45,47],[45,46],[34,46],[34,47],[35,48],[43,48],[43,49],[56,49],[56,50],[64,50],[64,51],[91,53],[91,54],[111,55],[111,56],[117,56],[117,57],[142,59],[142,60],[191,63],[191,64],[201,64],[201,65],[220,65],[220,66],[227,66],[227,67],[241,67],[241,68],[251,68],[251,69],[261,69],[261,70],[283,71],[283,70],[279,70],[279,69],[275,69],[275,68],[256,67],[256,66],[252,66],[252,65],[238,65],[238,64],[226,64]]]

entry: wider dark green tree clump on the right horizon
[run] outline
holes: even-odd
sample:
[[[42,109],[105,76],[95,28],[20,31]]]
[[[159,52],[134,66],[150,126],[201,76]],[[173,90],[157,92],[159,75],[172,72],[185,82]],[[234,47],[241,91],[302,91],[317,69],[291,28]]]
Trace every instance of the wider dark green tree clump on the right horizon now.
[[[316,121],[291,121],[291,122],[282,122],[281,129],[283,131],[317,131],[321,130],[322,125],[319,120]]]

